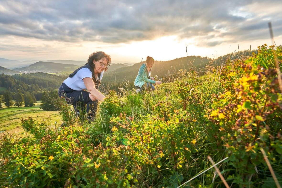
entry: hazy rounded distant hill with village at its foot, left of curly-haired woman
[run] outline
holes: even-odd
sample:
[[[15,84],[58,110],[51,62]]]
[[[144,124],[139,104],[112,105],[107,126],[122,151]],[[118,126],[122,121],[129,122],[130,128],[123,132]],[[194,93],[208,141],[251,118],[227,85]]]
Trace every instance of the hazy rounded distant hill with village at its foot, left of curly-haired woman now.
[[[31,73],[31,72],[58,73],[58,72],[72,71],[78,67],[79,67],[78,65],[72,65],[72,64],[39,61],[32,65],[29,65],[28,67],[15,68],[14,70],[20,71],[22,73]]]

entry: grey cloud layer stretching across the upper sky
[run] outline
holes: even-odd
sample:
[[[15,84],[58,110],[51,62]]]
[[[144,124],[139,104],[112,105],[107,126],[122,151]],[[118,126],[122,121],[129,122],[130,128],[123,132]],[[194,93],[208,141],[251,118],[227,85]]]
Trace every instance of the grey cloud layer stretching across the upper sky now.
[[[2,0],[0,35],[47,41],[130,43],[161,36],[215,46],[282,33],[281,1]],[[220,39],[220,40],[219,40]]]

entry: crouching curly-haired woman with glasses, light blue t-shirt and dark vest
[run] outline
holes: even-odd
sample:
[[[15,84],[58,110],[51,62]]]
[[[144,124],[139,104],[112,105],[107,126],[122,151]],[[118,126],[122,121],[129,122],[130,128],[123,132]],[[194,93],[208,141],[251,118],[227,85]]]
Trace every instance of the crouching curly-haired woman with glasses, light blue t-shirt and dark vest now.
[[[58,94],[65,97],[67,103],[72,104],[76,115],[80,110],[88,114],[88,120],[93,120],[96,114],[98,101],[105,96],[98,91],[104,70],[111,64],[111,57],[104,52],[94,52],[87,60],[87,63],[76,69],[69,78],[61,84]],[[88,90],[88,91],[85,91]]]

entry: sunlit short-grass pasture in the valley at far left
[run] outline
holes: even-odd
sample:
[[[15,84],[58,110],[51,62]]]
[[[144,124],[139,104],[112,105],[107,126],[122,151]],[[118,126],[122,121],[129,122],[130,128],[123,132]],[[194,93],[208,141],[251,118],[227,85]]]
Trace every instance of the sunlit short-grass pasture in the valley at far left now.
[[[0,109],[0,132],[18,133],[23,131],[21,118],[32,117],[36,121],[47,121],[49,125],[61,123],[59,112],[39,109],[40,101],[32,107],[3,107]]]

